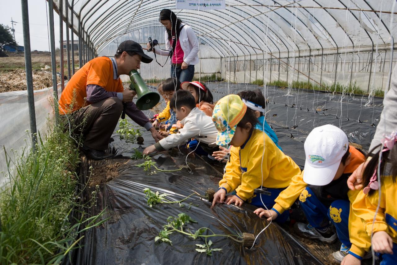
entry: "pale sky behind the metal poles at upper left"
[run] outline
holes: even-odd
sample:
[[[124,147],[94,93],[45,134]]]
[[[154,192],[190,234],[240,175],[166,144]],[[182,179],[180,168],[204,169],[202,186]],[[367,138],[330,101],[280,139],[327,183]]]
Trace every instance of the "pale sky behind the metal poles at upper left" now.
[[[15,29],[15,41],[18,45],[23,46],[23,29],[22,29],[22,11],[21,1],[19,0],[0,0],[0,24],[7,25],[10,28],[11,18],[16,21],[14,25]],[[29,29],[30,29],[30,46],[31,50],[38,51],[49,51],[48,48],[48,36],[49,27],[47,27],[47,12],[48,2],[46,0],[29,0]],[[64,27],[64,40],[66,40],[66,23],[63,23]],[[59,16],[54,11],[54,33],[55,33],[55,47],[60,47],[59,40]],[[69,38],[70,31],[69,31]],[[74,39],[77,39],[75,36]]]

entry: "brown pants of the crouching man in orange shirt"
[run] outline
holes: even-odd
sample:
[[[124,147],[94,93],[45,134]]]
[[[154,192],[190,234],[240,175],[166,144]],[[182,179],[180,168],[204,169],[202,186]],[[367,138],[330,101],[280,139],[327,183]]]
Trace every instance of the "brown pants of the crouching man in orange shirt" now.
[[[106,150],[122,111],[123,103],[118,97],[110,97],[83,107],[75,115],[75,133],[85,136],[85,147]]]

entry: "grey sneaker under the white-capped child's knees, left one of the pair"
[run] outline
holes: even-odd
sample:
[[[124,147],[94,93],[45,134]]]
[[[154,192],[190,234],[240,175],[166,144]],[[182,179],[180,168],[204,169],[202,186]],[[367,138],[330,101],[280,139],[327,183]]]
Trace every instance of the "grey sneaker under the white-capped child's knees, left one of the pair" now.
[[[327,226],[326,228],[318,229],[314,228],[310,224],[297,222],[294,225],[294,230],[299,236],[310,239],[318,239],[326,243],[333,243],[338,238],[331,225]]]

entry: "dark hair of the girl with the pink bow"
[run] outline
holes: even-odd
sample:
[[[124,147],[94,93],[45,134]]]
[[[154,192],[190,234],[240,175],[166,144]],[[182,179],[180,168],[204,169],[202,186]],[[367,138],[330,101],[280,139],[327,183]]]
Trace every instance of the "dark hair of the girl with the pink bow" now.
[[[374,152],[374,150],[378,147],[380,147],[380,150],[383,149],[382,145],[379,144],[378,146],[375,146],[375,148],[373,148],[370,152],[368,152],[368,154],[372,154],[372,152]],[[382,151],[380,151],[382,152]],[[370,179],[372,177],[372,175],[374,174],[375,168],[378,166],[378,162],[379,162],[379,154],[380,152],[377,152],[374,156],[372,156],[372,159],[368,162],[367,166],[364,169],[364,173],[362,174],[362,183],[364,184],[364,187],[368,186],[368,184],[370,183]],[[387,176],[385,175],[385,169],[386,169],[386,164],[387,162],[389,162],[389,164],[391,165],[390,168],[388,168],[388,172],[386,172]],[[378,173],[376,173],[378,174]],[[384,177],[389,177],[389,175],[391,177],[393,177],[393,182],[396,181],[396,177],[397,177],[397,144],[388,151],[385,151],[382,153],[382,161],[380,164],[380,174],[381,174],[381,183],[382,183],[382,179],[384,179]],[[368,195],[372,195],[374,194],[375,190],[374,189],[370,189]]]

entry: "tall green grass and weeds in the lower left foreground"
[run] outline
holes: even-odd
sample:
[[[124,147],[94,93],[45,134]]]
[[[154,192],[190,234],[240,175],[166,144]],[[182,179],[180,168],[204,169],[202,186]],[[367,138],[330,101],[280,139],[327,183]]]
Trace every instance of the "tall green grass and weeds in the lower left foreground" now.
[[[0,263],[60,263],[78,246],[81,232],[98,225],[98,216],[69,220],[83,208],[75,170],[78,147],[61,125],[24,154],[7,154],[9,183],[0,193]],[[15,166],[15,170],[11,168]]]

